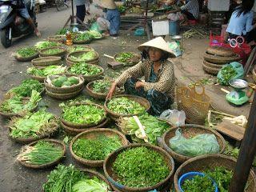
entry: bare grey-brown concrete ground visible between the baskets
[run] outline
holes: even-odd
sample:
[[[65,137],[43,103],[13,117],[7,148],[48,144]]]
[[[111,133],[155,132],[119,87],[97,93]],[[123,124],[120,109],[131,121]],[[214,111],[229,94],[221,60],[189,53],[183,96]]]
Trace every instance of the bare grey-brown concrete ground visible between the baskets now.
[[[94,3],[97,3],[95,1]],[[100,10],[95,10],[94,6],[90,7],[90,15],[86,15],[86,19],[94,16],[94,14],[102,14]],[[74,9],[75,13],[75,9]],[[44,13],[37,15],[38,29],[42,33],[41,38],[37,38],[35,34],[29,36],[23,36],[21,38],[15,38],[10,48],[6,49],[0,45],[0,95],[1,99],[6,91],[10,90],[14,86],[18,86],[25,78],[30,76],[26,74],[26,69],[30,67],[30,62],[18,62],[12,57],[18,48],[33,46],[36,42],[45,41],[51,35],[64,26],[66,20],[70,17],[71,8],[57,11],[56,8],[52,7],[46,10]],[[182,34],[182,31],[181,31]],[[166,42],[171,42],[170,36],[166,36]],[[120,31],[118,38],[107,37],[102,40],[91,42],[88,46],[91,46],[99,54],[100,62],[99,66],[102,66],[106,74],[111,74],[112,69],[106,66],[107,62],[110,62],[110,58],[106,58],[103,54],[114,56],[122,51],[133,51],[139,54],[137,46],[146,42],[148,39],[145,36],[138,37],[134,36],[134,30],[130,32],[130,35]],[[221,88],[231,90],[229,86],[216,86],[216,77],[206,74],[202,70],[202,54],[206,52],[209,47],[209,38],[197,39],[189,38],[182,42],[182,48],[184,52],[181,57],[173,58],[174,70],[177,78],[178,86],[188,86],[191,82],[197,82],[202,78],[209,78],[211,81],[210,85],[205,86],[206,94],[209,94],[212,105],[220,111],[226,112],[227,114],[234,115],[245,115],[247,118],[250,114],[250,104],[246,103],[244,106],[234,107],[226,101],[226,94],[222,92]],[[252,81],[251,78],[247,78],[248,81]],[[82,91],[82,95],[89,98],[86,93],[86,89]],[[252,98],[251,98],[252,99]],[[50,106],[47,108],[48,112],[54,113],[57,116],[60,115],[62,108],[58,106],[61,102],[57,99],[50,98],[45,94],[42,98],[43,102],[46,102]],[[175,106],[174,106],[175,107]],[[1,191],[42,191],[42,185],[47,181],[46,175],[50,174],[50,170],[54,167],[50,167],[42,170],[33,170],[21,166],[17,161],[16,157],[20,151],[22,145],[14,142],[8,136],[7,131],[7,119],[0,118],[0,189]],[[113,126],[108,124],[107,126]],[[56,138],[63,139],[64,133],[58,134]],[[76,167],[86,168],[82,164],[75,162],[74,158],[70,154],[68,149],[66,152],[66,158],[62,160],[62,163],[68,166],[70,163]],[[97,169],[102,173],[101,169]]]

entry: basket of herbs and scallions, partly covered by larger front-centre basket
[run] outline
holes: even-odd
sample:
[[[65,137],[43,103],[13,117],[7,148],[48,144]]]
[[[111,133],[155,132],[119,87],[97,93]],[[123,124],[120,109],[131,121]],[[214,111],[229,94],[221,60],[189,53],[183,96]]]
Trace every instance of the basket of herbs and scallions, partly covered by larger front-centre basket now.
[[[70,143],[73,157],[86,166],[103,166],[108,154],[129,144],[126,136],[117,130],[98,128],[78,134]]]

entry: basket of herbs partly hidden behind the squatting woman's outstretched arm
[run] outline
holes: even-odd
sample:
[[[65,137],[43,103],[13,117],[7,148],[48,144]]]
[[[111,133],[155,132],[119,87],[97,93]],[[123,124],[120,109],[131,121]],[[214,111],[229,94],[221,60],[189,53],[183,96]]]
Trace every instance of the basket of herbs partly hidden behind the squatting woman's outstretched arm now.
[[[114,82],[114,79],[112,78],[94,80],[92,82],[87,83],[86,90],[91,97],[105,100],[106,95],[108,94],[110,90],[110,86],[112,85],[113,82]],[[123,87],[117,87],[116,95],[124,94],[124,93],[125,93],[125,90]]]

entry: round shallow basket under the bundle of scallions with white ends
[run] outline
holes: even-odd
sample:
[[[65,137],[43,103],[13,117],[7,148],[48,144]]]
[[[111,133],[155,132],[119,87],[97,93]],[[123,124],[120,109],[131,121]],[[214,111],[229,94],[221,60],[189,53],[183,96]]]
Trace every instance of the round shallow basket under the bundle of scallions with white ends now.
[[[35,146],[39,141],[50,142],[50,143],[54,144],[54,147],[61,148],[62,149],[62,157],[56,159],[54,162],[48,162],[48,163],[42,164],[42,165],[33,165],[33,164],[30,164],[25,161],[19,161],[22,164],[22,166],[26,166],[26,167],[30,167],[30,168],[34,168],[34,169],[41,169],[41,168],[46,168],[48,166],[53,166],[53,165],[57,164],[62,158],[64,158],[64,154],[66,153],[66,146],[65,146],[64,142],[61,142],[56,139],[44,138],[44,139],[38,140],[36,142],[30,142],[30,144],[28,144],[27,146]],[[22,152],[24,152],[25,149],[26,149],[26,146],[25,146],[25,148],[22,148]]]

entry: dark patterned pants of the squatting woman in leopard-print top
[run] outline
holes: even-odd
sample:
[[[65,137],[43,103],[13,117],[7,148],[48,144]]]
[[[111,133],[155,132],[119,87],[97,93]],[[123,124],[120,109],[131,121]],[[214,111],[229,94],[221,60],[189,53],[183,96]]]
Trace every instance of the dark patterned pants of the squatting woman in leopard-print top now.
[[[151,105],[149,114],[160,116],[162,111],[170,109],[170,105],[174,102],[169,94],[162,94],[154,89],[145,91],[144,87],[141,87],[141,90],[135,90],[136,82],[138,81],[140,81],[138,78],[127,79],[124,85],[126,94],[138,95],[142,98],[146,98]]]

